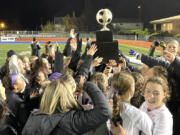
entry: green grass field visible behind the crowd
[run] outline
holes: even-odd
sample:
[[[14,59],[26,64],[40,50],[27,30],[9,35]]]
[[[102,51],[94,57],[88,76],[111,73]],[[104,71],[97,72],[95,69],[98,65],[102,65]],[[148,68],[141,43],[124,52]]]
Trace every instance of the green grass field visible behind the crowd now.
[[[42,45],[41,53],[44,50],[44,45]],[[59,44],[59,49],[62,52],[64,49],[65,44]],[[82,52],[85,49],[85,45],[82,46]],[[131,45],[123,45],[119,44],[119,49],[127,56],[129,55],[129,50],[133,49],[139,53],[148,54],[149,49],[148,48],[141,48],[141,47],[135,47]],[[5,63],[6,60],[6,53],[8,50],[14,50],[18,55],[31,55],[31,48],[30,44],[0,44],[0,66],[2,66]],[[160,51],[155,52],[155,55],[160,55]]]

